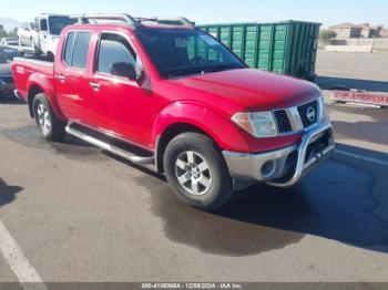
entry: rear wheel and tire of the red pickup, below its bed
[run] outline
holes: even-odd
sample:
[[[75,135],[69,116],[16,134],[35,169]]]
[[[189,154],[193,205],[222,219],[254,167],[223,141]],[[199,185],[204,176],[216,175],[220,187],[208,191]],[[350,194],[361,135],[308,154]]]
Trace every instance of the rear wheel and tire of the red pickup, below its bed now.
[[[59,120],[45,94],[38,94],[32,104],[33,117],[35,120],[39,132],[48,141],[59,142],[65,135],[65,122]]]

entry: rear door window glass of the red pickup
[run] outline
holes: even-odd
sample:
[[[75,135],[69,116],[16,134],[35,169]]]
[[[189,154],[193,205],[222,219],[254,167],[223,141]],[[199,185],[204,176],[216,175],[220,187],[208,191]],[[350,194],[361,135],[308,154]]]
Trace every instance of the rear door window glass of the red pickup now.
[[[88,62],[90,32],[70,32],[67,38],[63,60],[67,64],[78,69],[85,69]]]

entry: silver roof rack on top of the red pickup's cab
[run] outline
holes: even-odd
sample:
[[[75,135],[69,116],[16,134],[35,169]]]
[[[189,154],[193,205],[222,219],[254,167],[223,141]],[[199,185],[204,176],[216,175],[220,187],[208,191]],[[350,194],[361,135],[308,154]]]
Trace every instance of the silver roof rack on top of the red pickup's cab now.
[[[72,15],[72,18],[75,18],[79,20],[80,23],[90,23],[93,20],[113,20],[113,21],[121,21],[124,23],[130,24],[133,28],[142,25],[143,22],[155,22],[159,24],[170,24],[170,25],[185,25],[185,27],[194,27],[195,22],[190,21],[186,18],[133,18],[130,14],[122,13],[122,14],[82,14],[82,15]]]

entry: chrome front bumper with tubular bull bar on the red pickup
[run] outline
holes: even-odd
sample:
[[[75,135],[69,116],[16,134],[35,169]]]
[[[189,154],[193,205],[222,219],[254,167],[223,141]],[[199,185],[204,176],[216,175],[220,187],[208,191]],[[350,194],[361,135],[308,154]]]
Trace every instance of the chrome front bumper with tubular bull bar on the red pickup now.
[[[224,151],[223,155],[235,185],[266,183],[290,187],[326,159],[334,148],[331,125],[323,124],[305,133],[299,145],[261,154]]]

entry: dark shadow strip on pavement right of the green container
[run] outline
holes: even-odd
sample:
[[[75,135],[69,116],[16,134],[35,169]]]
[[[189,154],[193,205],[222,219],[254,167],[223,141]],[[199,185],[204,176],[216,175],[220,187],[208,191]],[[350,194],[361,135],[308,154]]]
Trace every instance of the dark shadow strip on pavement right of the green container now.
[[[315,83],[323,90],[361,90],[388,93],[388,82],[356,80],[334,76],[317,76]]]

